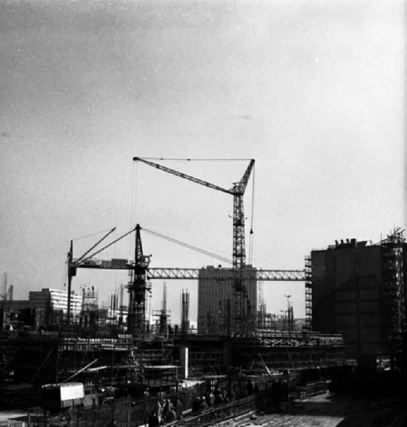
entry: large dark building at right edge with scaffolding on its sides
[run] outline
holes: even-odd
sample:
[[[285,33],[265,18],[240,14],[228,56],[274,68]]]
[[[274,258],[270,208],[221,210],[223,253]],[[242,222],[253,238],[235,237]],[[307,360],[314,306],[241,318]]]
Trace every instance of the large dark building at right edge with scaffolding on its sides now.
[[[390,355],[397,346],[405,317],[404,240],[399,230],[374,245],[346,239],[306,259],[312,329],[343,334],[348,357]]]

